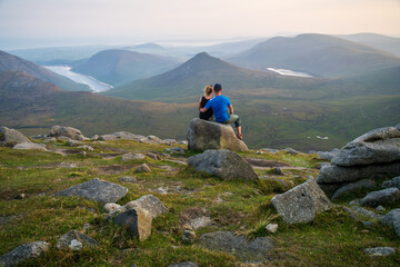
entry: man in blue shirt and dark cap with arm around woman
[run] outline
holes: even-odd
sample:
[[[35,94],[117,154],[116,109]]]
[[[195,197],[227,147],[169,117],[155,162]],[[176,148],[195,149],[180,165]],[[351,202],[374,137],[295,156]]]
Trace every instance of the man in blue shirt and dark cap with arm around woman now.
[[[214,85],[214,93],[216,97],[210,99],[204,108],[200,109],[200,112],[206,112],[209,108],[212,108],[216,121],[221,123],[234,123],[238,135],[237,137],[242,140],[243,136],[241,134],[241,123],[240,118],[237,115],[233,115],[233,106],[230,102],[229,98],[222,96],[222,87],[220,83]],[[227,108],[229,108],[230,113],[227,112]]]

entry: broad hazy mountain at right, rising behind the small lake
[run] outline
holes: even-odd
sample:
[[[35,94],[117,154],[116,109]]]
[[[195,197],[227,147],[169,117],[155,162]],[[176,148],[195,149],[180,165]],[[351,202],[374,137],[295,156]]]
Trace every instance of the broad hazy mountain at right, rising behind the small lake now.
[[[272,38],[228,61],[249,69],[289,69],[321,77],[343,77],[400,66],[400,58],[391,53],[324,34]]]

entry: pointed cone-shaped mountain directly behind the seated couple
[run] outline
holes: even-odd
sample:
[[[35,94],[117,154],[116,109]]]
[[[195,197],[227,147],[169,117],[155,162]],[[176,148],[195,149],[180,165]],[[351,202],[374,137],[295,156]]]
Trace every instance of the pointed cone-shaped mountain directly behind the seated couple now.
[[[177,101],[177,98],[201,96],[206,85],[216,82],[222,83],[222,88],[229,90],[240,90],[266,87],[301,88],[306,85],[313,88],[321,81],[248,70],[201,52],[173,70],[113,88],[102,95],[127,99]]]

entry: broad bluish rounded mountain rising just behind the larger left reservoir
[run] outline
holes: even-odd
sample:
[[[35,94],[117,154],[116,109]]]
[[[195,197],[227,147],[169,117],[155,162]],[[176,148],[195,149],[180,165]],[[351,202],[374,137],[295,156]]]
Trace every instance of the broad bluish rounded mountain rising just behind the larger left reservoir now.
[[[177,65],[178,61],[172,58],[128,50],[104,50],[72,70],[119,86],[162,73]]]

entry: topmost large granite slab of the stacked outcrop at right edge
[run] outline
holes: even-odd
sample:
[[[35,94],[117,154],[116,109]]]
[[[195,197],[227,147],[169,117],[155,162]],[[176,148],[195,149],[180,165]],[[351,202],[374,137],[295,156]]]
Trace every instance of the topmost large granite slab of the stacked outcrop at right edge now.
[[[394,161],[400,161],[400,130],[386,127],[371,130],[346,145],[331,164],[346,167]]]

